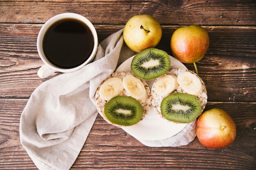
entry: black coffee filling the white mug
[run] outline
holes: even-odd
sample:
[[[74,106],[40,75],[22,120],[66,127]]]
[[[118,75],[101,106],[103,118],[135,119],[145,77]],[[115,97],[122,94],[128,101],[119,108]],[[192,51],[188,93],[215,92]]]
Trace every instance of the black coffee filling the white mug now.
[[[59,68],[75,68],[91,55],[94,39],[90,29],[81,21],[63,19],[46,31],[43,50],[47,59]]]

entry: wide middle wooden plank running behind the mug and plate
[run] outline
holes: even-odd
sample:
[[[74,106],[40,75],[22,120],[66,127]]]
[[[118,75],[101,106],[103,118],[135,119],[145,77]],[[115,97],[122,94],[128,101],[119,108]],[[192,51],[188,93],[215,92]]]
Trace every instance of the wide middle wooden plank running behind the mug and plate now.
[[[0,24],[0,97],[29,98],[43,81],[37,70],[43,65],[36,49],[42,24]],[[96,25],[99,41],[124,26]],[[180,26],[163,26],[157,48],[171,54],[170,39]],[[250,102],[256,99],[256,28],[205,26],[210,47],[198,62],[209,101]],[[185,64],[194,70],[192,64]],[[55,74],[57,75],[57,74]],[[55,76],[53,75],[53,76]]]

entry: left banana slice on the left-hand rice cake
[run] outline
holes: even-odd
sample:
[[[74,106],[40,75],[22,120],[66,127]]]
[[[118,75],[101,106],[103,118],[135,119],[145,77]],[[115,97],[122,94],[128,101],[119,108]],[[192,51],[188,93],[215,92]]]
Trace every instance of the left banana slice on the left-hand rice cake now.
[[[122,78],[112,77],[106,80],[99,89],[99,96],[103,100],[110,100],[124,90]]]

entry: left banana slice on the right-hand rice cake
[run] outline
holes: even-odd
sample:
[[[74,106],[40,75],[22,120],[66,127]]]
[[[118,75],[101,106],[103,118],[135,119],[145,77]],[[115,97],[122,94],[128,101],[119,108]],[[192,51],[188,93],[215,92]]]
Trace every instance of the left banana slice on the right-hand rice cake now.
[[[155,93],[159,96],[166,96],[178,87],[177,76],[164,75],[155,82]]]

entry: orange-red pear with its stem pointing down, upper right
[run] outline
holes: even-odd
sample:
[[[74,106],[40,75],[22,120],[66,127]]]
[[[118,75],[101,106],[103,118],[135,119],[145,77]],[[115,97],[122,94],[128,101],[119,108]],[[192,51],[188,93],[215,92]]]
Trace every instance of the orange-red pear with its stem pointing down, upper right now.
[[[198,70],[195,62],[204,57],[208,47],[208,33],[199,25],[178,28],[171,37],[171,50],[174,57],[182,63],[193,63],[196,74],[198,74]]]

